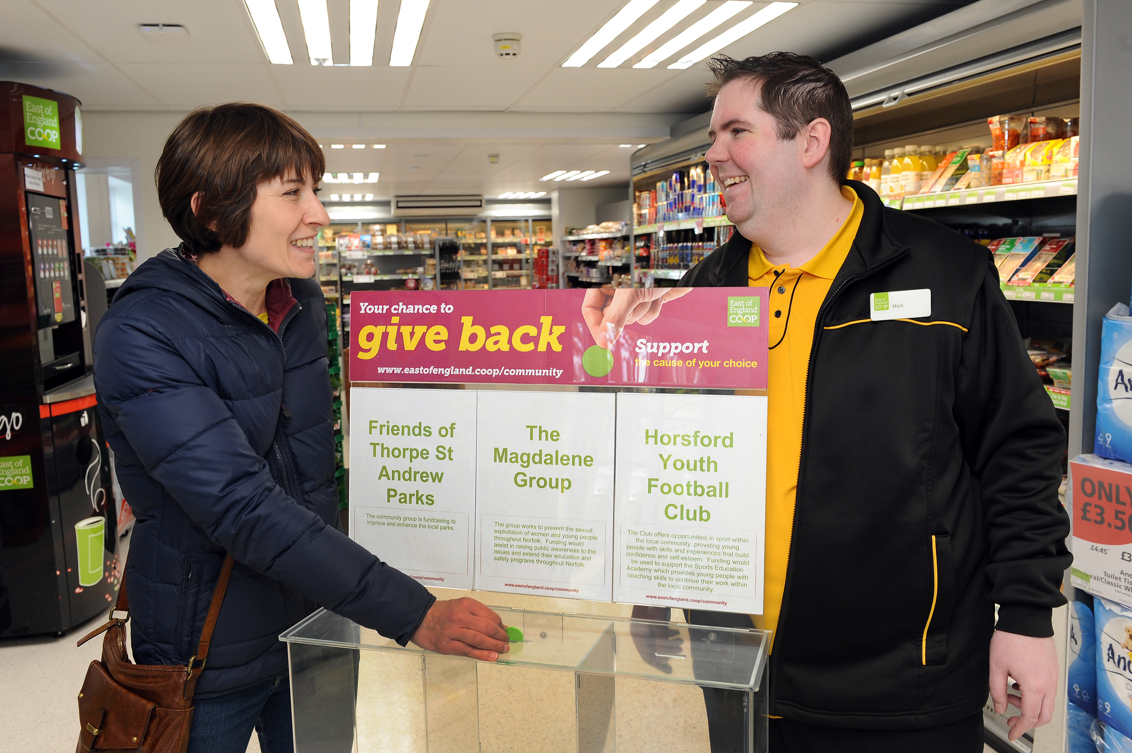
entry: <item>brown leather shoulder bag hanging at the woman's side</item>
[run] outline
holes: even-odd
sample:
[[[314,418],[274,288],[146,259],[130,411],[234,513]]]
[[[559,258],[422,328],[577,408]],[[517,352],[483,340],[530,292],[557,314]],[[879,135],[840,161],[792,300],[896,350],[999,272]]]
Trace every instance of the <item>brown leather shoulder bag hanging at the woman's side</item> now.
[[[102,660],[91,662],[78,694],[80,729],[76,753],[110,750],[185,753],[192,725],[192,695],[208,658],[208,643],[233,564],[229,555],[216,581],[200,643],[188,666],[130,661],[126,652],[129,601],[122,580],[110,621],[78,642],[83,645],[95,635],[106,633],[102,640]],[[115,617],[117,611],[125,611],[126,617]]]

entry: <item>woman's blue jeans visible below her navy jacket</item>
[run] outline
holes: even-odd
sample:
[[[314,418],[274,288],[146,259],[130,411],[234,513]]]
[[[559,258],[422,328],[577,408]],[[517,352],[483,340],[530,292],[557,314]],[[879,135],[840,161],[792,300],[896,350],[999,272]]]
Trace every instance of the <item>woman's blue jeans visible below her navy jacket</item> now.
[[[252,729],[263,753],[294,753],[286,675],[195,705],[188,753],[245,753]]]

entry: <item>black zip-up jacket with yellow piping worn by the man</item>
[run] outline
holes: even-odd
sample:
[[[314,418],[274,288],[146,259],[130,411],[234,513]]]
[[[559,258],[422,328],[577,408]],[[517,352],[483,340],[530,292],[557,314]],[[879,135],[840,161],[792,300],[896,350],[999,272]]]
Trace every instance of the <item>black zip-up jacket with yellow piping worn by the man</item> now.
[[[934,727],[986,702],[995,604],[1053,635],[1065,434],[987,249],[843,182],[865,214],[814,328],[770,712]],[[736,232],[679,284],[745,286],[749,250]],[[869,319],[869,293],[925,288],[931,316]]]

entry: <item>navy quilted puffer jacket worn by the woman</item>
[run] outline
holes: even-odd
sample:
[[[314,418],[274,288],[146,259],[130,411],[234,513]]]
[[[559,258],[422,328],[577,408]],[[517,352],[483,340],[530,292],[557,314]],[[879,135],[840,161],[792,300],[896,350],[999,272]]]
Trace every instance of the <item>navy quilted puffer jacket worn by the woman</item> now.
[[[98,326],[94,379],[137,515],[126,583],[138,664],[186,664],[224,553],[237,565],[197,698],[286,671],[278,634],[318,605],[408,642],[435,600],[341,533],[318,284],[278,334],[175,250],[140,265]]]

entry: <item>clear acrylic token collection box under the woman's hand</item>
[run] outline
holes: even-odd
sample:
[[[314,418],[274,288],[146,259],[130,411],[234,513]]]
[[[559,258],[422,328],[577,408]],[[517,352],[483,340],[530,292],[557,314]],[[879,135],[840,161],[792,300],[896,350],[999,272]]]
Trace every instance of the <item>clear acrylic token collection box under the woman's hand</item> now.
[[[770,632],[494,607],[497,662],[326,610],[288,643],[297,753],[763,753]]]

